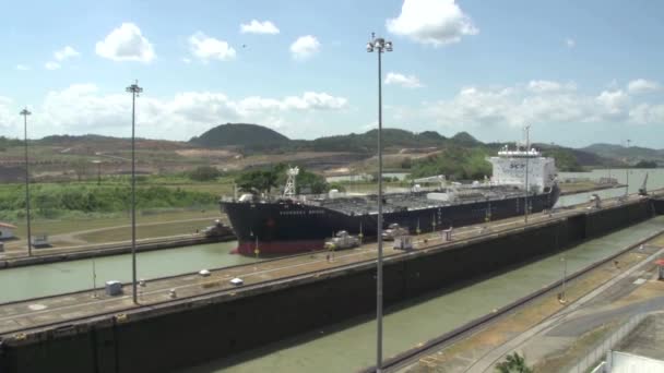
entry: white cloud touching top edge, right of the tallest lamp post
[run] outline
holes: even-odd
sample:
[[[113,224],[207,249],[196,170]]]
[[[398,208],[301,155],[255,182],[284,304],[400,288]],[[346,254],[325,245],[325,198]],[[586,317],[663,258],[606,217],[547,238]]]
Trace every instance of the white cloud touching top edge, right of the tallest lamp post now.
[[[479,32],[454,0],[404,0],[401,14],[388,20],[386,26],[392,34],[434,47]]]

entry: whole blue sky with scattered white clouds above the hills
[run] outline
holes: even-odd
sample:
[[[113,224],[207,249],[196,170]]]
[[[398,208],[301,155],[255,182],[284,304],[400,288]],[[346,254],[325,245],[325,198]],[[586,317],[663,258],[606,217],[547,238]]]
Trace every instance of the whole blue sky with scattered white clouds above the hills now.
[[[377,122],[483,141],[664,147],[664,2],[13,1],[0,14],[0,135],[188,140],[225,122],[294,139]]]

